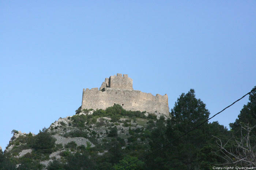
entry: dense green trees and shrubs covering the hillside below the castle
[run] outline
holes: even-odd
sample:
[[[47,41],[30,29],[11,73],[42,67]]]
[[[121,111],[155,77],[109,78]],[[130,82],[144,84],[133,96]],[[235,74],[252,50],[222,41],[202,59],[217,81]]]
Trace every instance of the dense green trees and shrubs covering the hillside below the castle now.
[[[79,115],[82,112],[79,108],[76,115],[68,118],[72,120],[71,123],[61,123],[62,130],[67,127],[75,128],[64,133],[63,137],[86,138],[95,145],[94,147],[90,142],[87,142],[86,146],[79,146],[75,142],[63,146],[56,145],[52,135],[43,129],[34,137],[28,134],[17,138],[9,144],[15,145],[10,153],[0,152],[0,169],[16,169],[17,164],[20,164],[18,169],[42,169],[43,166],[39,162],[49,160],[49,154],[54,151],[61,151],[61,159],[53,159],[47,167],[49,170],[120,169],[135,161],[125,169],[212,169],[217,164],[246,166],[230,162],[225,164],[228,153],[223,152],[216,141],[222,141],[224,144],[228,141],[225,148],[234,149],[233,138],[241,137],[241,126],[255,125],[256,92],[250,94],[249,100],[236,122],[230,124],[231,131],[218,122],[206,122],[181,138],[178,137],[207,120],[210,115],[206,104],[196,99],[193,89],[187,94],[182,93],[177,99],[170,112],[171,119],[165,119],[163,116],[157,119],[154,114],[145,116],[145,112],[126,111],[118,104],[87,115]],[[90,111],[83,110],[84,113]],[[106,121],[103,117],[111,120]],[[250,139],[256,138],[255,131],[256,129],[252,130]],[[242,135],[245,135],[246,131],[243,132]],[[100,138],[104,134],[105,137]],[[18,159],[13,157],[28,148],[33,148],[33,151]],[[155,152],[150,154],[153,151]],[[139,160],[145,155],[148,156]]]

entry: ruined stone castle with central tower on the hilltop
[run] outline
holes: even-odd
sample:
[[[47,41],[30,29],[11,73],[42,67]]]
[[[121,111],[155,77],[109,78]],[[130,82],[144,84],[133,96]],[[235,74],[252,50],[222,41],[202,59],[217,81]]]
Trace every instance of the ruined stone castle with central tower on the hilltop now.
[[[132,79],[127,74],[117,74],[105,79],[101,87],[83,89],[83,109],[106,109],[115,104],[125,110],[146,111],[147,113],[161,113],[169,117],[168,96],[156,96],[133,90]]]

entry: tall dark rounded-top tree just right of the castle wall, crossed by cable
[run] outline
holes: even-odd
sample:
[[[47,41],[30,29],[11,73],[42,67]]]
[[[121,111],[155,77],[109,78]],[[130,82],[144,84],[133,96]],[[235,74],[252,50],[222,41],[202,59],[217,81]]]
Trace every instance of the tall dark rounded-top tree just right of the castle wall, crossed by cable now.
[[[207,120],[210,112],[200,99],[196,99],[195,91],[191,89],[187,94],[182,93],[171,110],[172,119],[167,122],[169,141],[191,130],[193,127]],[[200,169],[195,163],[200,149],[207,144],[208,123],[191,131],[184,137],[170,145],[169,165],[176,169]]]

